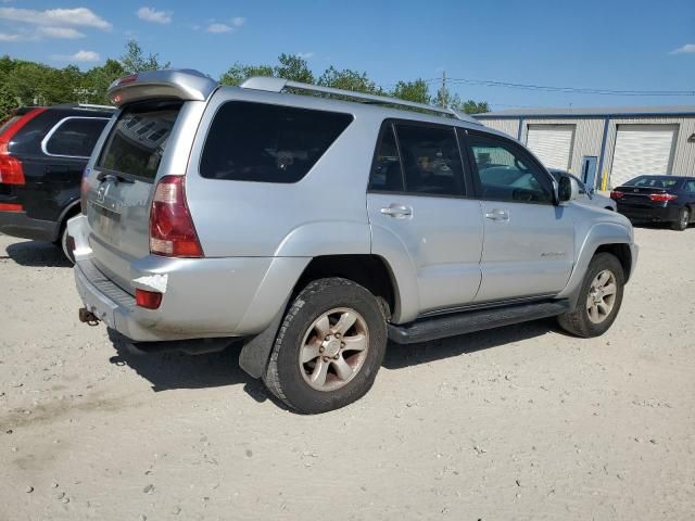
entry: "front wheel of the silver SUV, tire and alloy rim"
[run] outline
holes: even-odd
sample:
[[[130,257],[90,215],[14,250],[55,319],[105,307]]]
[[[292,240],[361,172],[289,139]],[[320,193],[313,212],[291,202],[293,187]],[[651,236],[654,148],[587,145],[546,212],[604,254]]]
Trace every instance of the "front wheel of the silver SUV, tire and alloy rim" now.
[[[584,339],[604,334],[620,310],[624,280],[622,265],[615,255],[595,255],[589,264],[574,310],[557,317],[560,327]]]

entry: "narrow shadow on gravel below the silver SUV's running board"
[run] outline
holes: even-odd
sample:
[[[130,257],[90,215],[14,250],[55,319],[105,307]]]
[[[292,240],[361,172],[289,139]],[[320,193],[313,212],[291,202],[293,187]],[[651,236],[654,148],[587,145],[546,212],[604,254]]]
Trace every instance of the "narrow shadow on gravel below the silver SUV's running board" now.
[[[419,344],[399,345],[390,342],[382,366],[387,369],[403,369],[405,367],[428,364],[434,360],[534,339],[557,330],[555,320],[545,319],[476,333],[460,334],[458,336]]]

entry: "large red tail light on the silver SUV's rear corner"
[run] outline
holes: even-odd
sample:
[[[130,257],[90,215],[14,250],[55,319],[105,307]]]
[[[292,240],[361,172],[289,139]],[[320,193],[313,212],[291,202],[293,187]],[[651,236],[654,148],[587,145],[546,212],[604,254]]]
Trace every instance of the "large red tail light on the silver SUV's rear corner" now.
[[[150,211],[150,252],[166,257],[203,256],[186,204],[184,176],[165,176],[156,185]]]

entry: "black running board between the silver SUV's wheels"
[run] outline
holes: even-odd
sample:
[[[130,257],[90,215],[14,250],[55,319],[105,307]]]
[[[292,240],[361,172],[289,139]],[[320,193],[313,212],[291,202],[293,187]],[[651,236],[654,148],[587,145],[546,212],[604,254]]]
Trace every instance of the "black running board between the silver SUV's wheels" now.
[[[415,344],[472,333],[513,323],[555,317],[568,312],[568,301],[543,301],[422,318],[403,326],[389,325],[389,339],[396,344]]]

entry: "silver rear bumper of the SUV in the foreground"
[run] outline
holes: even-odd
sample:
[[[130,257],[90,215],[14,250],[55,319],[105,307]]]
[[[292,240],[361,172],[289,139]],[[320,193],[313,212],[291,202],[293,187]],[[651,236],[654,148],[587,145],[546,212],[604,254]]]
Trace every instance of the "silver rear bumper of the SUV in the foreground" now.
[[[249,336],[263,331],[285,305],[309,259],[304,257],[167,258],[134,260],[130,291],[163,294],[157,309],[136,305],[94,263],[87,219],[71,219],[75,280],[85,307],[132,342]]]

